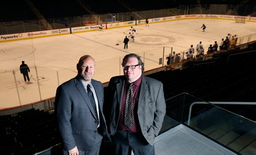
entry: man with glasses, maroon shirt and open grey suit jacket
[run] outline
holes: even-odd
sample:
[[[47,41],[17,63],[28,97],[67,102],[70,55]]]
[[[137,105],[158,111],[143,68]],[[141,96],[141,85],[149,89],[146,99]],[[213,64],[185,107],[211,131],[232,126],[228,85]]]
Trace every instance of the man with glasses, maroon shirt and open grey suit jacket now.
[[[115,154],[155,154],[166,108],[163,84],[142,75],[136,54],[126,55],[121,65],[124,75],[111,78],[104,105]]]

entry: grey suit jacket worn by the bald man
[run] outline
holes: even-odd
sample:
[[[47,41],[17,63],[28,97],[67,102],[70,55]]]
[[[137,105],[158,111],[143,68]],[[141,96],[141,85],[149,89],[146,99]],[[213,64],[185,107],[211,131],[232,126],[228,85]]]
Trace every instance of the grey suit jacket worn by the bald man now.
[[[103,108],[103,86],[100,82],[91,81],[99,103],[100,129],[103,135],[106,130]],[[63,83],[57,88],[55,108],[60,135],[65,150],[77,146],[78,150],[90,151],[95,145],[97,134],[96,116],[86,90],[79,77]]]

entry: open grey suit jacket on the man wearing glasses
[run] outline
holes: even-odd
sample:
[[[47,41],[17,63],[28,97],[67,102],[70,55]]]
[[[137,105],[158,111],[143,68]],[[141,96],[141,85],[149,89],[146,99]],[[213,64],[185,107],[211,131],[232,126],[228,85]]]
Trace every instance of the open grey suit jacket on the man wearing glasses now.
[[[124,81],[124,75],[115,76],[111,78],[108,86],[104,113],[111,135],[114,135],[117,130]],[[137,114],[141,132],[151,145],[154,145],[155,137],[162,127],[165,108],[163,84],[150,77],[142,76]]]

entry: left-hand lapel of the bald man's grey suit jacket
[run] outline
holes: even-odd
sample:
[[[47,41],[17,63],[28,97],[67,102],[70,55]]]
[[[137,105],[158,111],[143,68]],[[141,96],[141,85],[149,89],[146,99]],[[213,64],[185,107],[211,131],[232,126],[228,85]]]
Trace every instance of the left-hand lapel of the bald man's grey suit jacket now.
[[[79,80],[79,77],[75,78],[75,83],[76,83],[76,88],[78,89],[78,91],[80,92],[81,96],[83,97],[84,101],[86,101],[86,105],[89,107],[92,115],[94,116],[94,110],[91,104],[91,101],[89,100],[88,94],[86,93],[85,88],[83,87],[81,81]],[[94,116],[96,118],[96,116]]]

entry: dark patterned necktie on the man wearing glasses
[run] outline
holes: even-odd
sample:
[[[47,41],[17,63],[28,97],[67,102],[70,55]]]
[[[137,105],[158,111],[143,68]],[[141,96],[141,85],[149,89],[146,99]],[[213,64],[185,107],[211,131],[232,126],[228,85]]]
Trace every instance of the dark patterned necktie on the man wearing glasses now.
[[[133,120],[133,84],[130,84],[127,90],[124,107],[124,125],[131,128],[134,125]]]

